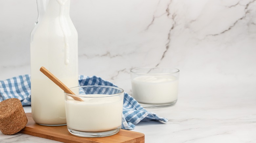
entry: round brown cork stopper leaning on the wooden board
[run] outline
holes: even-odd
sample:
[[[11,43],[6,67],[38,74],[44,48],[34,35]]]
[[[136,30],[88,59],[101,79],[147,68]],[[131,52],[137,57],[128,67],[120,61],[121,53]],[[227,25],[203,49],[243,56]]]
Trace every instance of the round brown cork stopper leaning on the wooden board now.
[[[17,98],[0,102],[0,131],[13,135],[22,130],[28,123],[22,104]]]

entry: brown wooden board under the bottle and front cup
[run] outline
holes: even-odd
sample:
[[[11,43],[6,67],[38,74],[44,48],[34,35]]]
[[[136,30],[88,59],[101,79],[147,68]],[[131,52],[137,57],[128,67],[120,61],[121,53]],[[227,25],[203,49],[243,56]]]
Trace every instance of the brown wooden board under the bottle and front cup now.
[[[43,126],[36,124],[31,113],[26,113],[28,123],[19,133],[47,138],[65,143],[144,143],[145,135],[121,129],[107,137],[80,137],[69,133],[67,126]]]

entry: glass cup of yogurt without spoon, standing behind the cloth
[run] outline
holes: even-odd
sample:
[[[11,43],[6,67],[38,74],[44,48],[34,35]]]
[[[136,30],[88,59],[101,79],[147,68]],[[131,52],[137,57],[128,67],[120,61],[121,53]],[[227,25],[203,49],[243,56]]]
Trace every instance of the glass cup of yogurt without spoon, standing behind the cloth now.
[[[174,105],[178,99],[179,72],[165,67],[132,69],[132,96],[147,108]]]

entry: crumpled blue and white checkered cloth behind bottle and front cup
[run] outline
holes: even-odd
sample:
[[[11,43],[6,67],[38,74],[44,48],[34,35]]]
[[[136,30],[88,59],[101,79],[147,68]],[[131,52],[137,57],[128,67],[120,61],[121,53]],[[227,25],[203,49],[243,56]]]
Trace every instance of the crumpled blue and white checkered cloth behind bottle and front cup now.
[[[30,75],[28,74],[0,81],[0,102],[9,98],[18,98],[22,105],[31,105],[30,81]],[[117,87],[97,76],[88,77],[80,75],[78,82],[80,86],[102,85]],[[146,111],[133,97],[124,93],[122,129],[132,130],[141,120],[168,122],[168,119]]]

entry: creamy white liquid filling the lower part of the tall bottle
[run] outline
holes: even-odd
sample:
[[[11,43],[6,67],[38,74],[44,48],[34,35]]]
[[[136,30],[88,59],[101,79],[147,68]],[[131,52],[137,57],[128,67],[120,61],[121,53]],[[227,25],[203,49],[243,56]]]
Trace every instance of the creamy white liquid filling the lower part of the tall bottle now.
[[[62,79],[67,85],[78,85],[76,77]],[[63,90],[50,79],[33,80],[36,84],[32,88],[33,120],[38,124],[58,125],[66,124],[65,99]],[[42,87],[46,90],[42,90]],[[37,92],[38,91],[38,92]]]

